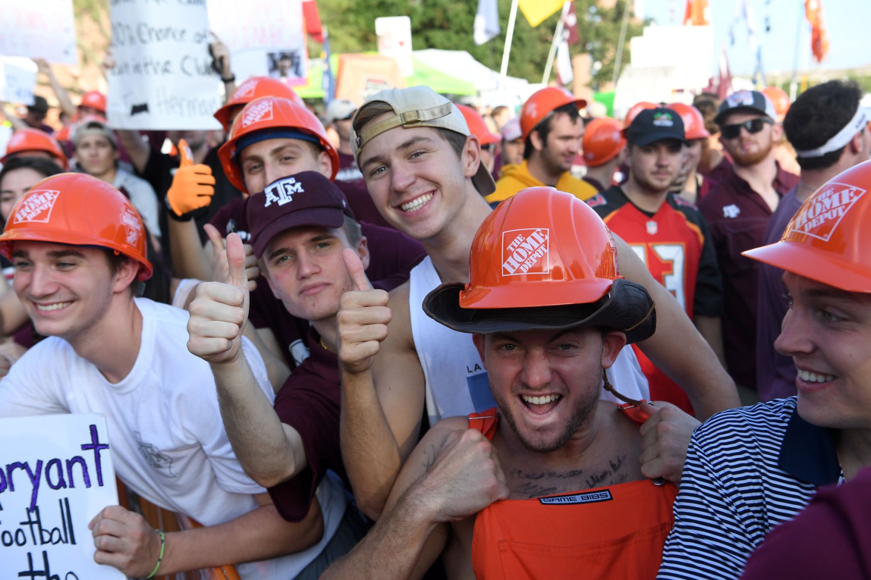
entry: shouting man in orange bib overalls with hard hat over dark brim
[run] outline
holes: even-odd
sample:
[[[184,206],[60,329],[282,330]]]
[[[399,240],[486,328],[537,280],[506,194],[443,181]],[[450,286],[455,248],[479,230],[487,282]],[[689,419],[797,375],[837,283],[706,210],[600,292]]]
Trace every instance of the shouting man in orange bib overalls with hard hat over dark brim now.
[[[540,242],[523,272],[503,260],[518,238]],[[469,284],[423,309],[473,334],[496,405],[429,430],[375,529],[325,577],[421,577],[439,555],[449,578],[654,577],[677,489],[642,474],[638,408],[601,401],[626,342],[656,327],[649,294],[619,275],[596,213],[550,187],[498,206],[470,260]],[[346,364],[368,356],[344,339]]]

